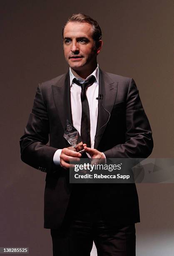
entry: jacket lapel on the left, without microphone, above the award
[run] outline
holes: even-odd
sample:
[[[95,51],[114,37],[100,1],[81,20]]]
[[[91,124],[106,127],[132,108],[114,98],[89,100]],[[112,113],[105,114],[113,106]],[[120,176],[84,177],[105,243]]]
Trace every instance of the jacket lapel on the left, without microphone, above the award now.
[[[67,119],[72,123],[69,72],[57,84],[52,85],[52,92],[62,127],[65,130]]]

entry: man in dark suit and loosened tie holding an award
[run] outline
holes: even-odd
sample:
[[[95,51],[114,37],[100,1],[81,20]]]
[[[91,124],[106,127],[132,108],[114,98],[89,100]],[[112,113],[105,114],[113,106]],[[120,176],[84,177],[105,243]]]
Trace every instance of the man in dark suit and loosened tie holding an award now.
[[[153,148],[149,121],[134,80],[99,69],[102,32],[95,20],[74,14],[62,35],[70,70],[37,87],[21,159],[47,173],[44,227],[54,256],[89,256],[93,241],[99,256],[134,256],[135,184],[70,184],[69,161],[82,155],[64,133],[68,119],[92,159],[146,158]]]

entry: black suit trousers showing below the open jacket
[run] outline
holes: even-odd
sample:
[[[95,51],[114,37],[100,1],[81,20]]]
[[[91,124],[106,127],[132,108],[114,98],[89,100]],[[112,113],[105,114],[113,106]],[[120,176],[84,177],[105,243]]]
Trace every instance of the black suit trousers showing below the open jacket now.
[[[135,256],[134,223],[108,224],[96,201],[77,196],[72,194],[62,227],[51,229],[53,256],[90,256],[93,241],[98,256]]]

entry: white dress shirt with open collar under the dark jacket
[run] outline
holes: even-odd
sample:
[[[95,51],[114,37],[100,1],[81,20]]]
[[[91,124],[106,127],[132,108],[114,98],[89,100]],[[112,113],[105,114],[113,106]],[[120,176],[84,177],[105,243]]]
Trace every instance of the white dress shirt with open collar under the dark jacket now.
[[[87,88],[87,100],[89,104],[89,113],[90,113],[90,135],[91,135],[91,148],[94,148],[94,137],[96,133],[97,128],[97,116],[98,116],[98,100],[96,100],[96,97],[98,97],[99,94],[99,67],[97,65],[97,68],[90,74],[86,79],[88,79],[91,76],[94,76],[96,78],[95,82]],[[71,111],[72,111],[72,122],[73,126],[77,129],[77,131],[80,133],[80,127],[81,127],[81,118],[82,118],[82,103],[81,103],[81,87],[72,80],[75,77],[75,75],[72,73],[70,68],[70,97],[71,97]],[[85,80],[86,80],[85,79]],[[60,154],[62,149],[57,149],[53,156],[53,161],[55,164],[60,164]]]

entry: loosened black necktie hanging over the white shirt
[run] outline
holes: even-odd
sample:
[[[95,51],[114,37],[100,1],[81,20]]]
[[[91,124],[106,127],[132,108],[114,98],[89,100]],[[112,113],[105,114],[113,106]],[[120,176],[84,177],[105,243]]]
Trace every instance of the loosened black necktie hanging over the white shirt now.
[[[81,128],[80,128],[80,137],[82,138],[83,143],[87,144],[87,147],[91,147],[91,136],[90,136],[90,114],[89,114],[89,104],[87,100],[86,91],[89,86],[95,82],[96,78],[91,76],[85,82],[81,82],[81,79],[74,78],[72,81],[75,84],[81,86],[81,102],[82,102],[82,119],[81,119]]]

